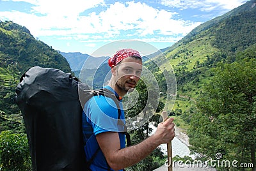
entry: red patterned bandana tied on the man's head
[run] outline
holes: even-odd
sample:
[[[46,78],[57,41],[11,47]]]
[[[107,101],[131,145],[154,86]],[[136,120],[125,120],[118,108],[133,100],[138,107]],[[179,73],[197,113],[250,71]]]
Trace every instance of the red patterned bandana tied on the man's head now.
[[[118,50],[114,56],[110,57],[108,59],[108,65],[110,67],[116,66],[116,64],[120,63],[123,59],[129,56],[138,56],[141,58],[140,53],[137,50],[125,48],[122,50]]]

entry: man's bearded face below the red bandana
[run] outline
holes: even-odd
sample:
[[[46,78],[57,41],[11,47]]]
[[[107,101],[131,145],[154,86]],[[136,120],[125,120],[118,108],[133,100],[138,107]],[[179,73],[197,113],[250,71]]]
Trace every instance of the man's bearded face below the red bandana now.
[[[123,59],[116,68],[116,89],[122,94],[131,92],[140,80],[142,62],[134,57]]]

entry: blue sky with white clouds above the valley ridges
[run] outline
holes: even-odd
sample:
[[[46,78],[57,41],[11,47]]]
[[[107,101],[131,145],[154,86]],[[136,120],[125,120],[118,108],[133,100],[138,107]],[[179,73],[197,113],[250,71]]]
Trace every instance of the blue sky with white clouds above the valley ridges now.
[[[113,41],[161,49],[248,0],[0,0],[0,20],[25,26],[61,52],[92,54]]]

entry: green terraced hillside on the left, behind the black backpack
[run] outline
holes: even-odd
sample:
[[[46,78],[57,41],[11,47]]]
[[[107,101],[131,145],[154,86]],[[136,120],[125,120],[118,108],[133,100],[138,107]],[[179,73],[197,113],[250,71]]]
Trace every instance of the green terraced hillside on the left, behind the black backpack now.
[[[71,72],[67,60],[57,50],[36,40],[26,27],[0,21],[0,131],[11,130],[13,126],[19,131],[17,124],[22,119],[15,104],[15,87],[20,76],[33,66]]]

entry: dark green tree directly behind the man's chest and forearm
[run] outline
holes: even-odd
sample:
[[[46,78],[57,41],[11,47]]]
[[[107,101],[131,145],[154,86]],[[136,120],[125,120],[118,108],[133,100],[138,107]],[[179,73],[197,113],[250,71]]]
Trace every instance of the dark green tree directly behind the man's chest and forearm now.
[[[147,103],[150,103],[152,101],[148,101],[148,94],[152,96],[152,93],[155,93],[154,91],[150,91],[150,85],[147,87],[143,81],[140,80],[138,82],[138,85],[136,85],[136,91],[138,91],[138,98],[131,97],[129,94],[129,100],[127,100],[127,97],[124,98],[124,107],[125,109],[125,115],[128,117],[134,117],[138,114],[143,112],[143,117],[148,118],[150,117],[149,121],[140,128],[137,128],[136,130],[130,131],[131,134],[131,145],[138,144],[141,141],[145,140],[150,133],[152,133],[152,128],[150,128],[149,123],[157,123],[159,121],[159,115],[157,114],[150,114],[151,110],[145,110],[145,106]],[[153,86],[153,85],[152,85]],[[159,94],[154,95],[154,97],[157,98]],[[150,104],[151,106],[155,107],[155,104]],[[149,106],[150,106],[149,105]],[[160,112],[160,110],[163,110],[164,104],[159,101],[158,106],[156,107],[156,112]],[[154,124],[155,125],[155,124]],[[154,170],[157,167],[160,167],[164,164],[164,156],[160,149],[155,149],[147,158],[144,160],[141,160],[136,165],[133,165],[132,167],[129,167],[125,170]]]

